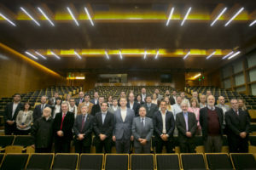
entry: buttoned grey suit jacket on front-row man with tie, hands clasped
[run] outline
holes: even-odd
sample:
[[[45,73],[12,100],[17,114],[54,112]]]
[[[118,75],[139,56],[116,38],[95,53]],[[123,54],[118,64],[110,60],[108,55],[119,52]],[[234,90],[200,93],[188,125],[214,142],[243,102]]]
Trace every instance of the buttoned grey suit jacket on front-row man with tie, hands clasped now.
[[[151,137],[154,132],[154,125],[152,119],[149,117],[145,118],[145,125],[143,126],[141,122],[141,117],[137,116],[133,119],[132,122],[132,135],[134,136],[134,146],[141,146],[140,142],[138,141],[139,138],[147,139],[147,144],[151,144]]]

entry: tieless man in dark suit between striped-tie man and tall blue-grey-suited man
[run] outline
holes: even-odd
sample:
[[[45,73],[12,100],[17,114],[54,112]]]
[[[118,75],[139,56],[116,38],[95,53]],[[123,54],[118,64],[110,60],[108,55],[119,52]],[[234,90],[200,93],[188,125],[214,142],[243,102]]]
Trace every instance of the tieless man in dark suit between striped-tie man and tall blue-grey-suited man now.
[[[108,102],[102,102],[102,111],[97,112],[94,117],[93,130],[95,133],[94,144],[96,153],[111,153],[112,133],[113,133],[113,113],[108,111]]]

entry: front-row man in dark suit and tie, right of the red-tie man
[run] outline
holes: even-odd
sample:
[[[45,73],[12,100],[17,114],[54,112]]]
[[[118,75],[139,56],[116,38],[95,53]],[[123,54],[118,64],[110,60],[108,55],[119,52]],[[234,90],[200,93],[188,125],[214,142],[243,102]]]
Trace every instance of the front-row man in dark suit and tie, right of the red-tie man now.
[[[74,145],[76,153],[90,153],[93,116],[88,113],[88,105],[81,106],[81,113],[73,125]]]

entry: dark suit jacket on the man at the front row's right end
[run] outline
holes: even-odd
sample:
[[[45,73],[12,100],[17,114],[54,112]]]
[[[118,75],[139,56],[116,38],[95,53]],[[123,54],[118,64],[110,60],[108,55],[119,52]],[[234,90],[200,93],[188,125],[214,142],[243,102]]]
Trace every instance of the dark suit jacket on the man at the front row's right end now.
[[[239,110],[239,116],[233,109],[225,114],[227,134],[232,137],[239,137],[241,132],[249,133],[250,119],[246,111]]]

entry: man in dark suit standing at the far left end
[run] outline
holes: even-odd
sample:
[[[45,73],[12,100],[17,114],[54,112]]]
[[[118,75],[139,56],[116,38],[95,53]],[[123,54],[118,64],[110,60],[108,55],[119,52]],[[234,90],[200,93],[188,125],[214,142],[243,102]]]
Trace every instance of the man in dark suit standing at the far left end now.
[[[16,116],[19,111],[23,109],[23,105],[20,103],[20,94],[14,95],[14,101],[7,104],[3,113],[4,118],[4,133],[6,135],[16,133]]]

